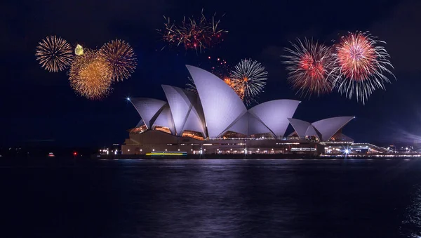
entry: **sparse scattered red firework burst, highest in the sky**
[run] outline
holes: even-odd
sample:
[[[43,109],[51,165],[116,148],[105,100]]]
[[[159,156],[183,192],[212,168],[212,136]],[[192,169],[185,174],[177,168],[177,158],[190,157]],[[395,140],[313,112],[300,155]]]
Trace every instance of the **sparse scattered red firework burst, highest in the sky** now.
[[[204,48],[210,48],[214,44],[222,41],[222,34],[227,33],[224,29],[219,29],[220,20],[215,21],[215,14],[212,20],[207,20],[201,13],[201,18],[183,18],[180,25],[175,25],[170,18],[163,17],[166,20],[164,29],[159,30],[162,33],[163,41],[170,45],[184,46],[186,50],[194,49],[202,51]]]

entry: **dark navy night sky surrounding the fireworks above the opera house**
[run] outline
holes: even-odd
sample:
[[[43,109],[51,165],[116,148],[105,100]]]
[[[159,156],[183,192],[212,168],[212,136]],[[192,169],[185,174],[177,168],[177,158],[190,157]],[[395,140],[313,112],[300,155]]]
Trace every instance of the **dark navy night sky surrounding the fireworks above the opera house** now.
[[[269,78],[258,101],[302,100],[297,119],[356,116],[344,129],[356,142],[412,142],[421,136],[420,1],[16,0],[2,2],[0,8],[0,145],[123,143],[126,130],[140,120],[126,98],[165,100],[161,84],[184,87],[189,75],[185,65],[210,70],[208,56],[232,65],[242,58],[262,62]],[[229,31],[225,41],[199,54],[184,48],[161,51],[156,29],[163,27],[163,15],[181,20],[183,15],[199,16],[202,8],[205,15],[225,13],[220,23]],[[295,95],[279,57],[288,41],[313,37],[330,44],[338,34],[356,30],[387,41],[397,81],[387,91],[375,91],[366,105],[338,93],[309,100]],[[70,88],[66,72],[49,73],[35,60],[36,45],[51,34],[88,48],[123,39],[138,55],[138,67],[130,79],[114,84],[104,100],[81,98]]]

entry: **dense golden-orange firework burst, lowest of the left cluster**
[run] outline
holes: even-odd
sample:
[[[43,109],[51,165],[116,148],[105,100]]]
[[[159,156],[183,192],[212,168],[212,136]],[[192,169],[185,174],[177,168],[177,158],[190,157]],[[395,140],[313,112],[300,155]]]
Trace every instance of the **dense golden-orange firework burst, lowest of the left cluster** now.
[[[112,67],[97,51],[85,51],[74,59],[69,81],[77,93],[88,99],[104,98],[112,84]]]

